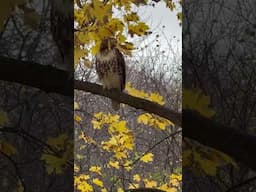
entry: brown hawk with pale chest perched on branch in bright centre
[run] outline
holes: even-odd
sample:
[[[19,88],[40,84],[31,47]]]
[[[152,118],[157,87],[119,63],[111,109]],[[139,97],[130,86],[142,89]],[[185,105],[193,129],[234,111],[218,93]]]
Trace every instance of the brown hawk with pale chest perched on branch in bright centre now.
[[[117,40],[110,37],[102,40],[96,54],[96,72],[104,89],[123,91],[125,87],[125,60],[117,49]],[[112,108],[117,111],[120,103],[112,100]]]

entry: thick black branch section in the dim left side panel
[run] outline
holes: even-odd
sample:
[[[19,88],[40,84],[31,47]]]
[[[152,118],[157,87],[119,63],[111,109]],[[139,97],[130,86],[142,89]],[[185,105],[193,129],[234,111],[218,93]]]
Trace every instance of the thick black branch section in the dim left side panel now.
[[[51,66],[0,57],[0,79],[73,97],[73,80]]]

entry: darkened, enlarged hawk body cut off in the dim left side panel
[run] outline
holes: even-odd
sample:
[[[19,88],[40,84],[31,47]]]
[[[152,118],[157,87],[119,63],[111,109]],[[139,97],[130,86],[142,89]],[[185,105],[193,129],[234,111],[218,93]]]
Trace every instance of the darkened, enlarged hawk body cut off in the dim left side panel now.
[[[59,68],[73,75],[73,3],[74,0],[50,0],[50,22],[52,38],[59,50],[62,63]]]

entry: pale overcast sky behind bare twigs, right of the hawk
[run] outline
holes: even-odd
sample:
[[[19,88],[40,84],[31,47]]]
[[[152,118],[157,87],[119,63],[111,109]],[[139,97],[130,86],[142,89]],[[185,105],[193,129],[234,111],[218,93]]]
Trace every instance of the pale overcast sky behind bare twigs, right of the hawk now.
[[[157,64],[162,70],[169,71],[170,68],[164,68],[167,63],[174,69],[171,71],[173,73],[171,75],[181,77],[181,71],[175,73],[181,67],[182,27],[179,25],[176,16],[181,8],[180,10],[171,11],[166,7],[165,2],[160,1],[155,3],[154,7],[149,5],[140,6],[135,8],[134,11],[138,13],[141,21],[149,25],[149,31],[152,31],[152,34],[141,37],[135,35],[133,38],[127,36],[128,40],[134,43],[136,47],[132,58],[137,60],[151,56],[158,57],[159,60],[154,60],[154,64]],[[159,45],[159,48],[155,49],[157,45]]]

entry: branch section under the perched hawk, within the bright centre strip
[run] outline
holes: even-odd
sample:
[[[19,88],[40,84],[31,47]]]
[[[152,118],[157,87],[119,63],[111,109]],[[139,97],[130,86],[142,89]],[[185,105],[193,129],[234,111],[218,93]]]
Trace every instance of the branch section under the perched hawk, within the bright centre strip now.
[[[136,109],[144,109],[145,111],[169,119],[174,124],[181,126],[181,114],[167,109],[166,107],[158,105],[154,102],[138,97],[133,97],[126,93],[120,93],[117,90],[104,90],[102,86],[90,82],[75,80],[74,87],[78,90],[83,90],[91,92],[93,94],[102,95],[104,97],[109,97],[121,103],[128,104]]]

